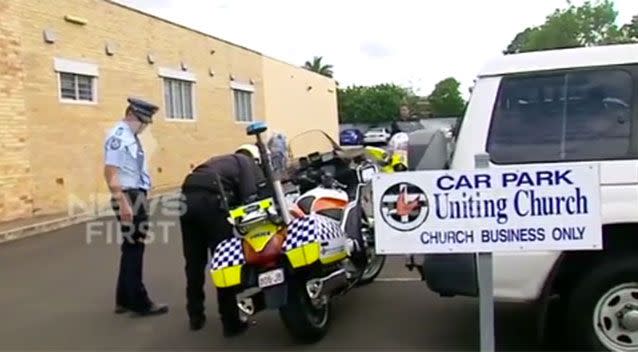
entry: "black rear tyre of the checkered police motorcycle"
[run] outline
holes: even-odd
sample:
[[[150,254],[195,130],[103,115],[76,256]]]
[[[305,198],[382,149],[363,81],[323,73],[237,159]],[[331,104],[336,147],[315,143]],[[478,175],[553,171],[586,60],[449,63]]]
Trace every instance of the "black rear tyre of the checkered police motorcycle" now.
[[[316,308],[308,296],[303,283],[291,282],[288,304],[279,309],[279,316],[292,337],[301,343],[315,343],[321,340],[332,318],[330,300],[321,308]]]

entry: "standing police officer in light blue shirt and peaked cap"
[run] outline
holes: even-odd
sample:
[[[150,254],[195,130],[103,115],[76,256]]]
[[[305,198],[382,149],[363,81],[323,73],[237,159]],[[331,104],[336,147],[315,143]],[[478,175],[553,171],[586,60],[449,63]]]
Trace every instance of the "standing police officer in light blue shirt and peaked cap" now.
[[[115,312],[164,314],[168,306],[154,303],[142,283],[151,178],[138,135],[152,123],[158,107],[139,99],[129,98],[128,102],[125,117],[104,144],[104,176],[123,237]]]

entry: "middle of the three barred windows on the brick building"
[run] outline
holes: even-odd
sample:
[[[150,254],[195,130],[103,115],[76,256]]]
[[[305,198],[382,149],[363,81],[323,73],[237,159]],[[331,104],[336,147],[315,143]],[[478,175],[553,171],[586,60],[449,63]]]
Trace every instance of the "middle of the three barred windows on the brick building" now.
[[[164,78],[166,117],[175,120],[193,120],[193,82]]]

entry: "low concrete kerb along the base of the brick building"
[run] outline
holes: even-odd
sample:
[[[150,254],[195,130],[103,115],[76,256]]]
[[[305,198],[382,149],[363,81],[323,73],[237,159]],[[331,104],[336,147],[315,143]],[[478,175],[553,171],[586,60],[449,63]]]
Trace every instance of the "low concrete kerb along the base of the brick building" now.
[[[179,194],[179,190],[171,190],[165,191],[162,193],[158,193],[152,195],[150,200],[162,200],[162,198],[172,198],[176,197]],[[102,209],[105,210],[105,209]],[[108,210],[108,209],[106,209]],[[102,214],[102,215],[99,215]],[[32,237],[35,235],[45,234],[51,231],[59,230],[65,227],[85,223],[92,220],[97,220],[101,218],[106,218],[109,215],[104,215],[104,211],[98,211],[97,215],[93,214],[80,214],[74,216],[67,216],[59,219],[42,221],[38,223],[29,224],[26,226],[21,226],[18,228],[6,230],[0,232],[0,244],[10,241],[15,241],[19,239],[24,239],[28,237]],[[111,215],[114,216],[114,215]]]

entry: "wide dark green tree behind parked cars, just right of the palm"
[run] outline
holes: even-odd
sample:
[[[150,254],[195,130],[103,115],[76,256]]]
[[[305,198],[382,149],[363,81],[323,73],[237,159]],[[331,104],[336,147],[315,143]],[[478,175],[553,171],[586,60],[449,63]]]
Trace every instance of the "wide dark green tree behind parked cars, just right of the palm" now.
[[[350,86],[337,91],[339,120],[345,123],[383,123],[396,119],[411,89],[396,84]]]

